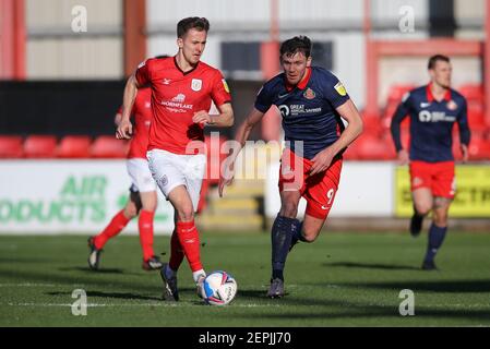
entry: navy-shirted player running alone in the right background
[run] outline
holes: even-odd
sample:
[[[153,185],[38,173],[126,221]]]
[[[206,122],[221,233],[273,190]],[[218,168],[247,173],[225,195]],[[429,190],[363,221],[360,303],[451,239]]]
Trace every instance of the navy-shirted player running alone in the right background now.
[[[423,217],[432,210],[429,242],[422,269],[435,269],[434,257],[447,231],[447,212],[456,192],[453,127],[459,127],[463,161],[468,159],[470,132],[465,97],[451,88],[451,61],[435,55],[429,59],[431,82],[404,96],[393,116],[391,132],[401,164],[409,163],[414,216],[410,233],[417,237]],[[401,122],[410,118],[409,152],[402,146]]]

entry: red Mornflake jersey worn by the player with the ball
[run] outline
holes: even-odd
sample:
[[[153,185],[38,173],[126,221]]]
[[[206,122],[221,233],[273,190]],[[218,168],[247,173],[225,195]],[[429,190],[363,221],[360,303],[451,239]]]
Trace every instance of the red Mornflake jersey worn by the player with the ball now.
[[[192,122],[194,113],[207,112],[212,100],[216,106],[231,100],[222,73],[204,62],[184,73],[175,57],[152,58],[140,64],[135,76],[152,88],[148,151],[186,154],[189,142],[204,141],[203,127]]]

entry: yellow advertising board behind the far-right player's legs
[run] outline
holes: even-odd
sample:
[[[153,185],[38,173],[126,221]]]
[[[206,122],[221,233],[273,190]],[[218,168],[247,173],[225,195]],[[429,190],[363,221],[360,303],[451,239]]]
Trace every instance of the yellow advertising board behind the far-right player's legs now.
[[[410,217],[414,213],[408,167],[395,169],[395,216]],[[490,166],[456,166],[456,197],[450,217],[490,218]]]

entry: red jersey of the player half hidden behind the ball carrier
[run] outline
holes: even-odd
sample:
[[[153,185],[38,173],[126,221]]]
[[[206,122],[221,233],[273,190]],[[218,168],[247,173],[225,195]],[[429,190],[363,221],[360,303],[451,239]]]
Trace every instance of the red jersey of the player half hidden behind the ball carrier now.
[[[119,108],[122,112],[122,108]],[[150,87],[139,88],[131,115],[134,118],[133,136],[131,137],[128,158],[146,159],[148,148],[148,133],[152,123],[152,89]]]

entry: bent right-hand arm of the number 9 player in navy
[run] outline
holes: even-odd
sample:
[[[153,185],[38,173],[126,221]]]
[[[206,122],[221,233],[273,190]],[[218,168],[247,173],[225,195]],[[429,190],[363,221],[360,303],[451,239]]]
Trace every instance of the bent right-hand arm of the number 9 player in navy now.
[[[332,164],[333,158],[362,133],[362,118],[351,99],[348,99],[342,106],[337,107],[336,110],[340,117],[348,122],[348,125],[335,143],[311,159],[313,163],[311,166],[311,174],[326,170]]]

